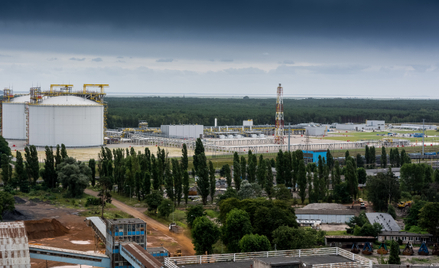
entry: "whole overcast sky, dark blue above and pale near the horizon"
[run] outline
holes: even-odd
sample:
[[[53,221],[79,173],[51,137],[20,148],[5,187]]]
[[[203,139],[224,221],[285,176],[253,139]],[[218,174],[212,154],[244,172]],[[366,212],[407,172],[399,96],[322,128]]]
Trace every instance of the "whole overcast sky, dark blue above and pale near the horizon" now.
[[[0,87],[439,98],[439,1],[1,1]]]

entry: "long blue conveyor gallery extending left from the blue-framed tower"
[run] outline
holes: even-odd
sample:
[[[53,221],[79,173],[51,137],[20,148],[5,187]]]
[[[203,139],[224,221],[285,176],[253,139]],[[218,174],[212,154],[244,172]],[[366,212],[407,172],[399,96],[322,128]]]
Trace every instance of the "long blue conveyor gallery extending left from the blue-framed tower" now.
[[[32,244],[29,244],[29,253],[33,259],[111,268],[110,258],[108,258],[107,255],[99,253],[88,253]]]

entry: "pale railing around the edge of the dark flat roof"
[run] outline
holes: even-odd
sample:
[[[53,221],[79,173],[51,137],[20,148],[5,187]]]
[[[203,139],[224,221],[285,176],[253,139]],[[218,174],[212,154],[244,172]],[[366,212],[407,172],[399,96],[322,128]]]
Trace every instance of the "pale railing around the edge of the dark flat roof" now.
[[[338,247],[168,257],[165,258],[165,265],[172,264],[174,266],[167,266],[167,267],[176,268],[178,267],[177,265],[248,261],[254,258],[269,258],[269,257],[300,258],[300,257],[308,257],[308,256],[327,256],[327,255],[339,255],[349,260],[352,260],[354,262],[317,264],[317,265],[313,265],[313,268],[314,267],[318,267],[318,268],[341,268],[341,267],[371,268],[372,267],[372,262],[369,259]]]

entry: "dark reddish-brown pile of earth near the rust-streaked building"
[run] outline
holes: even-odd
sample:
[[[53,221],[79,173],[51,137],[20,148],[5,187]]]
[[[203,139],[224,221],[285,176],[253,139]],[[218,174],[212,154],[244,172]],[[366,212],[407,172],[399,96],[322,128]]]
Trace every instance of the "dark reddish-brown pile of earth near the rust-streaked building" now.
[[[28,239],[51,238],[65,235],[69,229],[56,219],[25,221]]]

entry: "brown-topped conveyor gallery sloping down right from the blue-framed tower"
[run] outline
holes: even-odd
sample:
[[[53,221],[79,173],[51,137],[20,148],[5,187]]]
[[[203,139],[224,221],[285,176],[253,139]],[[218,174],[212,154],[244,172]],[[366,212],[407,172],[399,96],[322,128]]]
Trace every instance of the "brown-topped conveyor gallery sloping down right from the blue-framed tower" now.
[[[134,268],[160,268],[163,264],[137,243],[120,244],[120,255]]]

